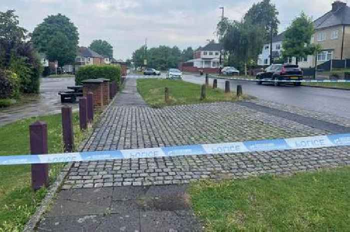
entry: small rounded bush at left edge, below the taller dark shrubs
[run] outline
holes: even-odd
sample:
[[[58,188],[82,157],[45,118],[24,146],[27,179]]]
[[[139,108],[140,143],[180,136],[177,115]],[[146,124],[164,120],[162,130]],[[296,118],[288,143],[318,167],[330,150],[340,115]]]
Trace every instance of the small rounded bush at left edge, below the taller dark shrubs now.
[[[9,70],[0,69],[0,98],[18,98],[18,77]]]

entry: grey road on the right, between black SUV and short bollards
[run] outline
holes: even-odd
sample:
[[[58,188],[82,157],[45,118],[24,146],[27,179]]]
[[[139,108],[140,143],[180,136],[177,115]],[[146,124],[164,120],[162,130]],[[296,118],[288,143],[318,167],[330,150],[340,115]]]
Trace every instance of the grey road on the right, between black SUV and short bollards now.
[[[183,80],[204,83],[203,77],[183,75]],[[217,79],[217,86],[224,88],[223,79]],[[209,84],[212,79],[209,79]],[[330,113],[338,117],[350,118],[350,91],[285,85],[275,87],[269,84],[257,85],[250,81],[230,80],[231,90],[241,84],[243,93],[281,104],[300,107],[306,110]]]

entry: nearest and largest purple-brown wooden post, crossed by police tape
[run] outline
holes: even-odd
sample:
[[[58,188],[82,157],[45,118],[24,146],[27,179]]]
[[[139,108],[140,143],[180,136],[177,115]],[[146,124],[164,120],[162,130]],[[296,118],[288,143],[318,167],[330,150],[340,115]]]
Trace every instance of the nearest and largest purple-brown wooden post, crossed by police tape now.
[[[47,124],[36,121],[29,125],[30,154],[47,154]],[[48,186],[48,164],[31,165],[31,188],[36,191]]]

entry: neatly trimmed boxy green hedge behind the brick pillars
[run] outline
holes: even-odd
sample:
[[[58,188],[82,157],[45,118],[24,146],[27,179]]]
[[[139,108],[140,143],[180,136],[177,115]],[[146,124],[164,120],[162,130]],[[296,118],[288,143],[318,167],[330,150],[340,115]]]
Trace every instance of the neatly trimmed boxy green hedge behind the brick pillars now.
[[[81,84],[81,81],[86,79],[105,78],[110,81],[119,83],[120,80],[120,66],[114,65],[85,65],[79,67],[75,74],[75,84]]]

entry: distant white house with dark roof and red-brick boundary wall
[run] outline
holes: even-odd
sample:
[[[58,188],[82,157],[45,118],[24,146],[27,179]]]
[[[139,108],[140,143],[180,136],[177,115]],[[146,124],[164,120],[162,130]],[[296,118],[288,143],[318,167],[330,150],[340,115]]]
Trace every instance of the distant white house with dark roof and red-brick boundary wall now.
[[[180,64],[181,71],[185,72],[204,72],[216,73],[219,71],[221,45],[211,40],[203,47],[199,47],[193,53],[193,59]]]

